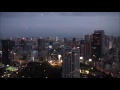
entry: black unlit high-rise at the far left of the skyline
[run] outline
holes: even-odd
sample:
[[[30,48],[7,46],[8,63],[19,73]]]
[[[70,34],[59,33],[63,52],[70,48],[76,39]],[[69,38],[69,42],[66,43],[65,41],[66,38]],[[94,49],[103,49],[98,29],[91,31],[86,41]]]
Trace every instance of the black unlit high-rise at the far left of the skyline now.
[[[14,47],[14,41],[2,40],[2,63],[7,65],[10,64],[10,51]]]

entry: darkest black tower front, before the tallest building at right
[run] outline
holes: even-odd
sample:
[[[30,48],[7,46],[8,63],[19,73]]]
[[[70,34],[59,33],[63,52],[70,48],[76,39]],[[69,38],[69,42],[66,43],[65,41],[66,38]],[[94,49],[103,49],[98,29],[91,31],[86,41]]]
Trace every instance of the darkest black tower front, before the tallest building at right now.
[[[101,34],[92,34],[91,58],[93,61],[99,60],[102,56]]]

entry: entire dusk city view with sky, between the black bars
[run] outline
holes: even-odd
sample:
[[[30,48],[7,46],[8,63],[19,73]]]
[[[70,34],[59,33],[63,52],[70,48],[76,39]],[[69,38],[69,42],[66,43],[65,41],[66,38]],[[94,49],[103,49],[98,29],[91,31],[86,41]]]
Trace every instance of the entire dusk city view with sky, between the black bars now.
[[[120,78],[119,12],[0,12],[0,78]]]

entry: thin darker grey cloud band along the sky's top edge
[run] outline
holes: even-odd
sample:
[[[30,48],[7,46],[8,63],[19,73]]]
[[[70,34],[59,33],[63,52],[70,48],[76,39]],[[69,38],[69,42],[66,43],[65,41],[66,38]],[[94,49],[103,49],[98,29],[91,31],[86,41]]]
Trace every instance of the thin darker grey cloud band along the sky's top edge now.
[[[30,17],[30,16],[116,16],[120,12],[0,12],[1,17]]]

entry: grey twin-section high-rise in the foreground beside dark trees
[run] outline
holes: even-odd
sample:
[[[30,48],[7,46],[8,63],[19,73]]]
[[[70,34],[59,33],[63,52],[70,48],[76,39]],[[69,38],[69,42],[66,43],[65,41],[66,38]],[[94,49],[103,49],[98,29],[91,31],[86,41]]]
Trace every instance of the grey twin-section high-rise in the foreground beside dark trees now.
[[[80,51],[66,47],[63,56],[63,78],[80,78]]]

